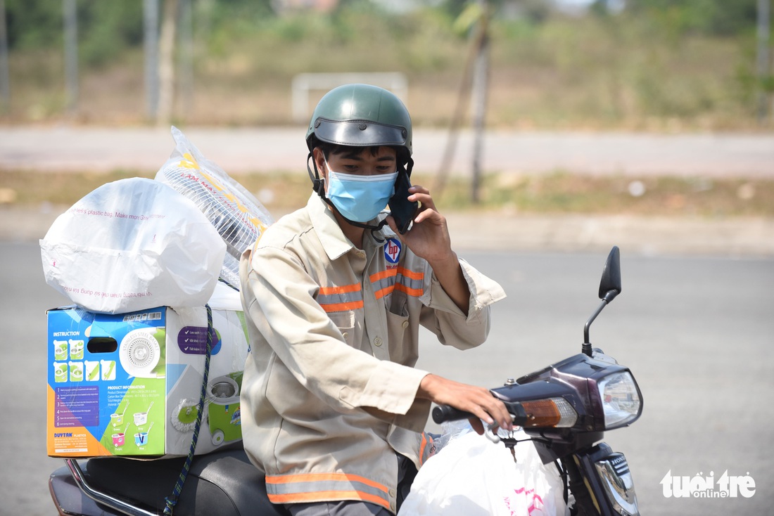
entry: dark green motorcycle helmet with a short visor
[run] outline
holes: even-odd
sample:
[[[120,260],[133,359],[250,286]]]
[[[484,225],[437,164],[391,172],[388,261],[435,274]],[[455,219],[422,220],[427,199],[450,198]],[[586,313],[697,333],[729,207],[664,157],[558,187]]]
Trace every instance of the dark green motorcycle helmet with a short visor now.
[[[354,147],[389,146],[401,164],[411,158],[411,118],[395,94],[368,84],[345,84],[329,91],[314,108],[307,129],[310,152],[317,142]],[[316,141],[317,140],[317,141]]]

